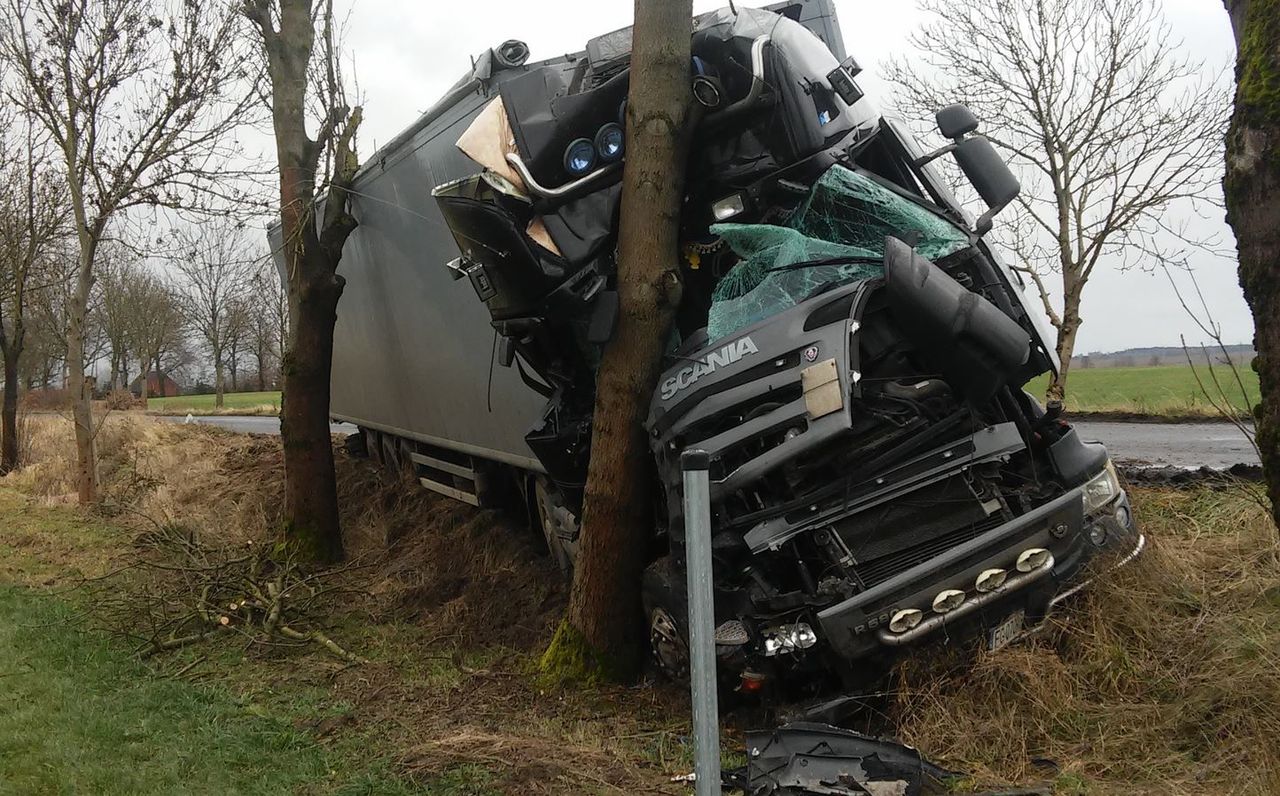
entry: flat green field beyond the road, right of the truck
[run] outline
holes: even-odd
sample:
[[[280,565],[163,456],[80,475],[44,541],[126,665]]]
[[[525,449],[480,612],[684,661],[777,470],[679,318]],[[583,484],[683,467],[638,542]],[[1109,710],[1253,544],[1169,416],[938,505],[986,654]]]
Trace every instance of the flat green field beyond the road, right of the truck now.
[[[1215,398],[1219,392],[1207,367],[1197,372]],[[1247,413],[1258,402],[1258,375],[1242,369],[1245,394],[1236,385],[1229,367],[1213,369],[1213,375],[1230,398],[1231,406]],[[1027,389],[1037,397],[1044,394],[1047,376],[1033,379]],[[1196,375],[1187,366],[1160,367],[1091,367],[1073,369],[1066,380],[1066,406],[1075,412],[1130,412],[1153,416],[1216,416],[1204,390],[1196,383]]]

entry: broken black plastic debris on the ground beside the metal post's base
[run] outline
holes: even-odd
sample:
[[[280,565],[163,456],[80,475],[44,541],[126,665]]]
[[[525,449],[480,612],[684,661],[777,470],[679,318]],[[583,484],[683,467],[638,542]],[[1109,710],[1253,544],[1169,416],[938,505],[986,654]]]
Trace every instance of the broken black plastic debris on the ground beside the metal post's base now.
[[[748,733],[746,759],[723,781],[746,796],[923,796],[954,777],[910,746],[806,722]]]

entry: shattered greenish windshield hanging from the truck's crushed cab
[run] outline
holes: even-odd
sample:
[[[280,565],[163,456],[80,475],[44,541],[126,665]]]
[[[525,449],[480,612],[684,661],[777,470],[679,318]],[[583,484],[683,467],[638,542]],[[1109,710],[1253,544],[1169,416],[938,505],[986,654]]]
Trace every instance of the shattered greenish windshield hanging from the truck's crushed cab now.
[[[712,293],[708,342],[828,287],[879,276],[888,235],[914,239],[915,251],[931,260],[969,244],[969,234],[955,224],[840,165],[814,183],[785,227],[714,224],[710,230],[741,261]]]

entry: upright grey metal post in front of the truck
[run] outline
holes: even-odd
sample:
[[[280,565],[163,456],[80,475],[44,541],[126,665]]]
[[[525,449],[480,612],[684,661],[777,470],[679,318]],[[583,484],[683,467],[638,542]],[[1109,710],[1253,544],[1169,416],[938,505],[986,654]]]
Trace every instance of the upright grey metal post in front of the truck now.
[[[689,687],[694,704],[694,792],[719,796],[719,710],[712,593],[712,500],[705,450],[680,457],[685,477],[685,568],[689,591]]]

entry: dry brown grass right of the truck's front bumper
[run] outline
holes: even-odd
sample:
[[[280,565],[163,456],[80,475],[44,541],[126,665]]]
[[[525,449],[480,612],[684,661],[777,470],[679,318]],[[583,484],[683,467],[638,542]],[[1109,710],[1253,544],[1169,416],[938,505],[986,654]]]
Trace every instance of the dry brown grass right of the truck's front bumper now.
[[[1024,645],[904,667],[897,726],[983,782],[1280,792],[1280,546],[1233,490],[1139,490],[1151,546]]]

